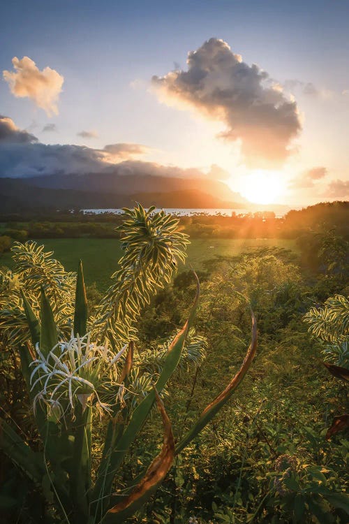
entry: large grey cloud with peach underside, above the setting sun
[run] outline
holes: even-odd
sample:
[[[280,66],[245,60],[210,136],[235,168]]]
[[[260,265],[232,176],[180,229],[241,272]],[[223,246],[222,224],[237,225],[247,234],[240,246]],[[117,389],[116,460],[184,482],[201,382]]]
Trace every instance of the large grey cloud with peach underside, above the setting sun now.
[[[248,66],[223,40],[210,38],[189,52],[187,64],[188,71],[152,78],[158,96],[223,122],[227,129],[221,137],[240,139],[250,166],[281,165],[301,129],[297,103],[267,72]]]

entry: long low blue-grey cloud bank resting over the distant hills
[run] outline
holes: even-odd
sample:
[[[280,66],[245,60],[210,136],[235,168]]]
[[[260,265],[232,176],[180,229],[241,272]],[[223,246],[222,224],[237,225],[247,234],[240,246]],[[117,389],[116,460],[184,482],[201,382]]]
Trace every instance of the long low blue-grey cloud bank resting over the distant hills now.
[[[12,119],[0,117],[0,177],[35,177],[85,173],[205,177],[198,169],[161,166],[132,160],[148,148],[140,144],[117,143],[103,150],[82,145],[47,145],[18,129]]]

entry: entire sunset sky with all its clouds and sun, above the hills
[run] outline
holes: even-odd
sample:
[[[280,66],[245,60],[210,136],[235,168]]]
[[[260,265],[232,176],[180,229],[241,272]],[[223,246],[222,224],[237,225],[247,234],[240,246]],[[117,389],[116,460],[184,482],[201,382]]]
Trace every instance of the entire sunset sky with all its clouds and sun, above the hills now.
[[[348,20],[347,0],[6,2],[0,176],[139,160],[261,203],[348,199]]]

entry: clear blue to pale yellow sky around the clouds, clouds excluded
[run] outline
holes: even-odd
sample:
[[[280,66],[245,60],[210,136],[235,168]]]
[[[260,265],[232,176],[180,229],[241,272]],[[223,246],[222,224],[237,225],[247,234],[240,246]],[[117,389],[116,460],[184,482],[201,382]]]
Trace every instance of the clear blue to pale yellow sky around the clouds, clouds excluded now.
[[[27,56],[40,70],[50,66],[63,75],[64,85],[59,114],[48,117],[2,80],[0,114],[43,143],[138,143],[151,148],[144,160],[203,170],[216,163],[231,174],[230,186],[243,191],[251,173],[236,144],[216,138],[222,122],[162,103],[151,89],[153,75],[186,70],[189,51],[219,38],[283,87],[291,81],[302,131],[292,141],[297,150],[278,167],[283,196],[323,200],[328,184],[349,178],[348,20],[346,0],[8,2],[0,8],[1,71],[13,71],[13,57]],[[57,131],[42,131],[47,124]],[[77,136],[83,130],[96,136]],[[326,177],[295,189],[302,174],[318,167]],[[334,193],[329,198],[346,196]]]

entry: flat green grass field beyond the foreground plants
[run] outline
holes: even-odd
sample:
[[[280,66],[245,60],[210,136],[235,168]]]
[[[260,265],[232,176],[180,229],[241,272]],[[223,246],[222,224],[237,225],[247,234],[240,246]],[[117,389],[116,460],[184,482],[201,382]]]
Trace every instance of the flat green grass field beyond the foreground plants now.
[[[53,251],[54,258],[63,263],[68,271],[75,271],[77,262],[82,259],[86,283],[96,282],[98,289],[105,290],[110,275],[117,269],[117,261],[122,256],[119,240],[112,238],[54,238],[38,240],[46,251]],[[193,239],[188,246],[188,259],[185,266],[202,269],[202,263],[215,256],[234,256],[259,247],[284,247],[297,251],[294,240],[268,239]],[[10,253],[0,256],[0,265],[12,267]]]

